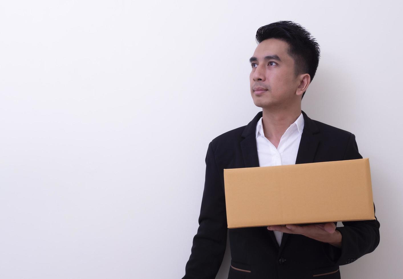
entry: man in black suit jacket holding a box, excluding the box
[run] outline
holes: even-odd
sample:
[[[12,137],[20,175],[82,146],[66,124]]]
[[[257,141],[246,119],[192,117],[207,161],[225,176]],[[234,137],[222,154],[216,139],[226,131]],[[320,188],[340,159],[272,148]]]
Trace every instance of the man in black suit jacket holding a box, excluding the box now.
[[[250,58],[253,103],[262,108],[248,125],[210,142],[206,180],[183,279],[214,279],[231,247],[228,278],[341,278],[379,244],[378,220],[228,229],[224,168],[303,164],[363,158],[355,135],[312,120],[301,100],[318,68],[320,49],[300,25],[279,21],[260,27]],[[375,210],[375,205],[374,205]]]

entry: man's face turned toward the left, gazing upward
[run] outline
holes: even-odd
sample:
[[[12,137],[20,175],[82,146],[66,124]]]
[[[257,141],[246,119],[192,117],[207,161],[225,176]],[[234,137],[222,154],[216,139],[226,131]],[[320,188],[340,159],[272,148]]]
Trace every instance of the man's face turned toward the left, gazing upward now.
[[[295,94],[299,79],[295,77],[294,59],[288,55],[288,47],[285,41],[273,38],[256,47],[249,80],[253,103],[257,107],[287,108],[301,100],[301,96]]]

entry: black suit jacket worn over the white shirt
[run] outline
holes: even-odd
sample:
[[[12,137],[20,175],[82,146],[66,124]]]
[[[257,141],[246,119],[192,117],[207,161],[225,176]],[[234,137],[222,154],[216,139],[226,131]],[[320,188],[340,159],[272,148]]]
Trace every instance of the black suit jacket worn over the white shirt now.
[[[344,227],[337,228],[342,234],[341,248],[287,233],[283,233],[278,246],[274,233],[266,226],[227,228],[223,170],[259,166],[256,124],[262,113],[248,125],[223,133],[208,145],[199,228],[183,279],[216,277],[224,257],[227,230],[231,247],[229,279],[341,278],[339,265],[352,263],[379,244],[377,219],[343,222]],[[363,158],[354,134],[312,120],[303,111],[302,114],[305,122],[295,164]]]

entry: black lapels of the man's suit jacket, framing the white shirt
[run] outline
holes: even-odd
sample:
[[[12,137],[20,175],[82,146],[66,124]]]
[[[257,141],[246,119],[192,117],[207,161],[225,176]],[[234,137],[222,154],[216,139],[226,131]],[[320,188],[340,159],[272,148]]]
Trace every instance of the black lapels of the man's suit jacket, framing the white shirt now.
[[[299,148],[297,153],[297,158],[295,160],[295,164],[305,164],[314,162],[314,156],[316,153],[316,149],[318,148],[318,135],[319,132],[318,127],[310,119],[307,117],[304,111],[301,111],[304,118],[304,128],[301,135],[301,141],[299,142]],[[263,111],[260,111],[253,119],[246,125],[245,129],[241,137],[241,150],[242,156],[245,163],[245,168],[253,168],[259,166],[259,157],[258,157],[258,148],[256,146],[256,124],[259,119],[262,117]],[[289,238],[290,234],[283,233],[283,237],[281,239],[281,245],[278,246],[278,242],[276,237],[274,236],[273,231],[269,231],[266,227],[263,227],[266,232],[272,238],[274,245],[279,249],[278,253],[280,254]]]

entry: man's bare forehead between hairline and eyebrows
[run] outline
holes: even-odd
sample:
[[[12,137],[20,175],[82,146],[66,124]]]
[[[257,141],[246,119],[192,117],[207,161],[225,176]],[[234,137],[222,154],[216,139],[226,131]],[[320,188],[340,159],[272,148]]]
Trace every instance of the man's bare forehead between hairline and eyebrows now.
[[[266,39],[261,41],[253,52],[253,56],[260,59],[264,59],[266,55],[278,55],[281,61],[291,62],[292,58],[287,53],[289,44],[279,39]]]

